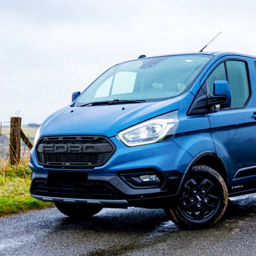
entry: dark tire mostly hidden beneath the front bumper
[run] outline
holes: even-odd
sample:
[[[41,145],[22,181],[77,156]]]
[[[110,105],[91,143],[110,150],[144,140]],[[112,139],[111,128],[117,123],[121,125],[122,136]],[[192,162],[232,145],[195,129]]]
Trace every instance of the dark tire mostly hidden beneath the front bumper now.
[[[86,219],[102,210],[101,206],[89,206],[86,204],[55,203],[57,209],[70,218]]]

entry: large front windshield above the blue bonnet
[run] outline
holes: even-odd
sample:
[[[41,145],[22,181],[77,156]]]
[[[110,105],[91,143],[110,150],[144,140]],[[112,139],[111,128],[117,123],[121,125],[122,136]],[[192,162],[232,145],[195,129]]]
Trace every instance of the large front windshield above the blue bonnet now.
[[[156,101],[184,93],[209,56],[179,55],[132,60],[118,64],[96,79],[75,106],[112,100]]]

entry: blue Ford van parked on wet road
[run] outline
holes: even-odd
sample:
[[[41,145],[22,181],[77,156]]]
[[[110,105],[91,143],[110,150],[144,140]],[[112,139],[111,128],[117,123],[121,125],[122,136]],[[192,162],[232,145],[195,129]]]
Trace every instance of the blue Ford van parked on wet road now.
[[[31,150],[31,196],[72,218],[163,208],[211,226],[228,197],[256,191],[256,57],[140,56],[49,116]]]

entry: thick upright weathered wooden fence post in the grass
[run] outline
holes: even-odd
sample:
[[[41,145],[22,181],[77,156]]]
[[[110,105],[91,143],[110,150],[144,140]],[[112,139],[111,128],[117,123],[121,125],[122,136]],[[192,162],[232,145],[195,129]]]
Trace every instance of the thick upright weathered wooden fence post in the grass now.
[[[12,165],[20,161],[20,129],[21,117],[11,117],[9,159]]]

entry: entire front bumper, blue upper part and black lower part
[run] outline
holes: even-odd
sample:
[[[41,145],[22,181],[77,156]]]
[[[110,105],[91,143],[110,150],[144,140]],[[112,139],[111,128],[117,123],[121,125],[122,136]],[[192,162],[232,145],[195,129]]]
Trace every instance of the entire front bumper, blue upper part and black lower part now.
[[[184,172],[192,160],[192,156],[173,140],[148,144],[136,147],[127,147],[116,137],[110,138],[116,146],[116,152],[103,166],[95,167],[92,170],[61,170],[44,168],[36,161],[34,149],[31,150],[30,169],[32,170],[31,196],[39,200],[49,200],[51,202],[73,202],[73,203],[99,203],[104,207],[123,208],[124,206],[136,206],[143,208],[163,208],[166,204],[176,202]],[[122,174],[140,172],[144,174],[154,170],[162,178],[161,186],[133,186],[125,180]],[[70,196],[66,192],[63,194],[61,189],[68,187],[65,184],[58,184],[58,193],[55,188],[49,188],[46,184],[48,173],[55,172],[87,172],[88,184],[104,184],[107,190],[113,192],[113,197],[106,198],[104,194],[100,196],[86,195],[86,192],[76,192]],[[45,185],[41,193],[34,190],[35,182]],[[59,186],[60,185],[60,186]],[[63,185],[63,186],[62,186]],[[62,187],[61,187],[62,186]],[[83,189],[83,188],[79,188]],[[76,197],[76,193],[83,194]],[[71,200],[71,201],[70,201]],[[90,201],[96,200],[96,201]],[[112,200],[108,203],[105,200]],[[124,204],[126,201],[128,204]]]

